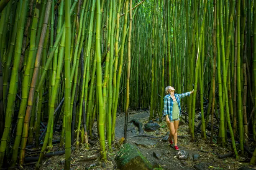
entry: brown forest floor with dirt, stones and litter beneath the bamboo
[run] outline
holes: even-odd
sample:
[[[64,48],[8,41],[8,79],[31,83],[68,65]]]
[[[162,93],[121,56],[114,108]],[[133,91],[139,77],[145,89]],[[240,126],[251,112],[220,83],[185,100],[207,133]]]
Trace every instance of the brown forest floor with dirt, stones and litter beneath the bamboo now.
[[[120,138],[123,137],[124,128],[124,113],[119,113],[116,120],[115,128],[115,143],[117,144]],[[128,122],[132,119],[139,120],[141,123],[146,124],[148,122],[149,113],[147,111],[137,111],[130,112]],[[167,125],[165,121],[159,122],[154,120],[154,122],[160,125],[159,130],[146,132],[144,131],[144,136],[139,135],[138,128],[132,123],[128,123],[127,131],[127,142],[135,145],[138,150],[152,163],[154,167],[161,167],[164,170],[195,170],[197,166],[204,166],[202,169],[209,170],[237,170],[243,166],[247,166],[256,169],[254,166],[248,165],[248,158],[245,154],[243,157],[239,156],[239,160],[236,161],[235,158],[225,158],[219,159],[218,155],[224,155],[232,152],[231,145],[228,143],[226,148],[222,148],[217,144],[210,144],[209,141],[204,141],[200,139],[200,134],[197,134],[195,142],[190,142],[190,135],[188,135],[188,125],[181,121],[179,124],[178,135],[178,146],[180,150],[185,150],[192,154],[199,154],[198,160],[193,161],[193,158],[189,157],[187,160],[179,160],[177,158],[178,151],[174,150],[169,146],[169,142],[163,139],[163,136],[168,132]],[[94,133],[97,133],[97,125],[94,125]],[[58,138],[59,134],[55,134]],[[161,137],[161,138],[150,138],[148,136]],[[137,136],[137,137],[135,137]],[[209,140],[209,138],[208,138]],[[93,141],[93,139],[92,139]],[[98,141],[95,139],[95,142]],[[115,155],[119,148],[117,145],[112,147],[113,152],[107,152],[108,160],[104,163],[100,160],[100,150],[99,143],[95,143],[90,146],[90,150],[85,149],[83,146],[80,147],[79,152],[73,151],[71,155],[71,169],[72,170],[117,170],[117,165],[115,163]],[[252,146],[254,147],[254,146]],[[107,148],[107,146],[106,146]],[[237,147],[238,148],[238,147]],[[59,150],[59,144],[55,144],[54,151]],[[159,158],[156,158],[153,153],[158,153]],[[93,160],[85,160],[88,157]],[[41,170],[62,170],[64,168],[65,155],[53,156],[50,158],[45,158]],[[26,166],[25,169],[34,169],[34,165]]]

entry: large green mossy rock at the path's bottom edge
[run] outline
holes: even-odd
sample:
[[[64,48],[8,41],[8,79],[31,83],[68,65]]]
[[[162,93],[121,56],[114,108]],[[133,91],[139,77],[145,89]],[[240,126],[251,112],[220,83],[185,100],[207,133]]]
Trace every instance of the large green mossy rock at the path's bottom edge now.
[[[115,156],[121,170],[153,170],[151,163],[133,145],[126,143]]]

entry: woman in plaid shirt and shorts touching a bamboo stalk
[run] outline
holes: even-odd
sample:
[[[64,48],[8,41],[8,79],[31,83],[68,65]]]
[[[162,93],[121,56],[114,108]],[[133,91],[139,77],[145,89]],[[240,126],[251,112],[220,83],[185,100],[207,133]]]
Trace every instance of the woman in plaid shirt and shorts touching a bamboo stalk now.
[[[194,92],[186,92],[183,94],[174,94],[174,87],[167,86],[165,88],[166,96],[164,97],[164,115],[166,117],[166,123],[170,130],[169,134],[169,143],[172,145],[172,138],[174,139],[174,149],[179,150],[177,146],[177,129],[179,126],[179,116],[181,116],[181,108],[180,108],[180,98],[189,96],[191,93]]]

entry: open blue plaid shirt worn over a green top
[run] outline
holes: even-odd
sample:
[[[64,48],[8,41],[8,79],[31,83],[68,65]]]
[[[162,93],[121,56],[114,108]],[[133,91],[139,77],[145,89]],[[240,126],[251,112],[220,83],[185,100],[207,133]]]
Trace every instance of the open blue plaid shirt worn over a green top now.
[[[190,92],[185,92],[185,93],[182,93],[182,94],[174,94],[175,98],[176,98],[176,101],[178,103],[178,106],[179,106],[179,116],[181,116],[181,107],[180,107],[180,98],[182,97],[186,97],[186,96],[189,96],[190,95]],[[168,115],[169,116],[169,119],[172,121],[172,108],[173,108],[173,100],[172,100],[172,97],[170,94],[164,96],[164,114],[163,116],[166,116]]]

